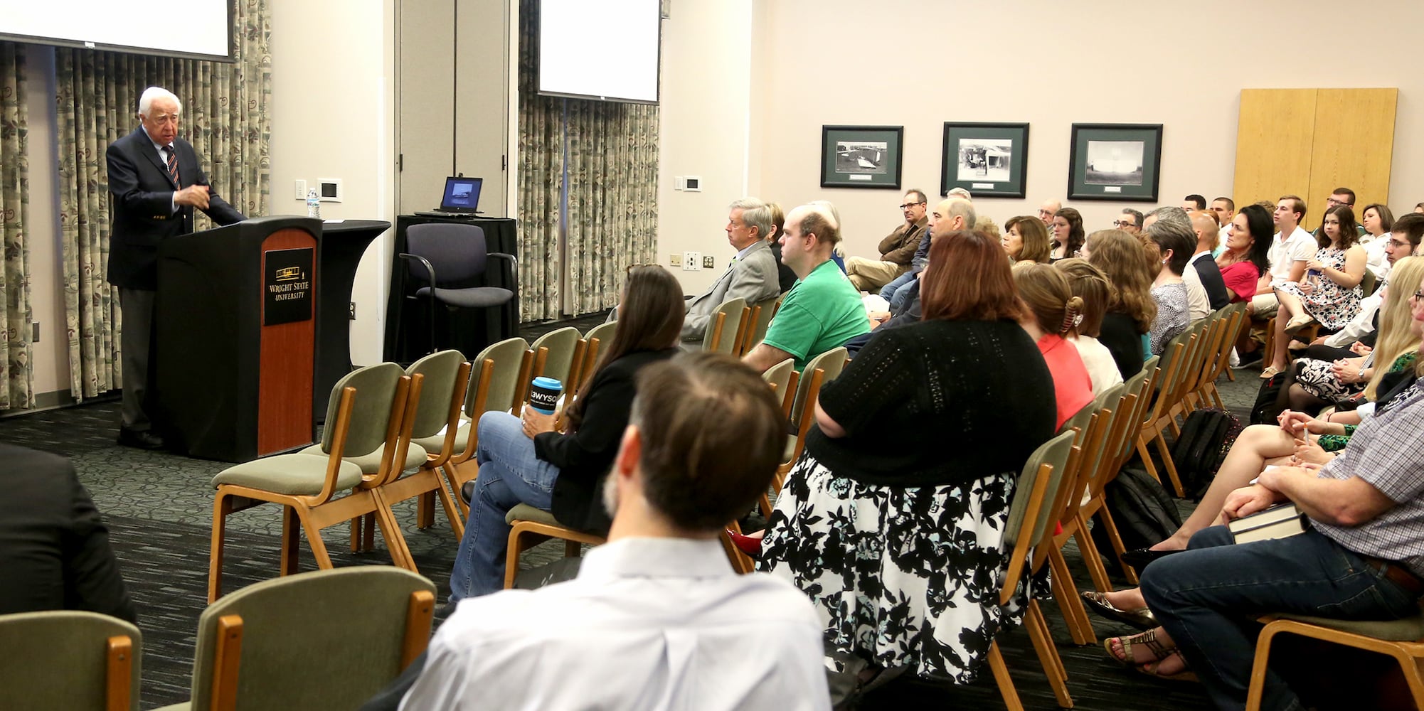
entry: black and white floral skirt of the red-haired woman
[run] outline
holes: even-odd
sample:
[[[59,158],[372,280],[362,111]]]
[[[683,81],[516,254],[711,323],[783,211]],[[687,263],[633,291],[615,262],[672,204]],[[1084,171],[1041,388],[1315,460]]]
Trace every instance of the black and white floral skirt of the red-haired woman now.
[[[806,454],[776,501],[760,569],[810,596],[829,648],[971,683],[990,643],[1020,623],[1027,603],[998,604],[1014,479],[874,486],[836,476]],[[840,665],[827,657],[833,671]]]

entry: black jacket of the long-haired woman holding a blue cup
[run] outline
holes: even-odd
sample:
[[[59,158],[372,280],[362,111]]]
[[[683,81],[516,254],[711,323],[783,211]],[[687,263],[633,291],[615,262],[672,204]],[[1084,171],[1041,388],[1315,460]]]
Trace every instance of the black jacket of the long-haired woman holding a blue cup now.
[[[604,478],[632,412],[634,377],[644,365],[668,360],[681,348],[632,351],[594,374],[584,394],[584,422],[571,434],[534,438],[534,455],[558,466],[550,512],[565,526],[607,535],[612,519],[604,510]]]

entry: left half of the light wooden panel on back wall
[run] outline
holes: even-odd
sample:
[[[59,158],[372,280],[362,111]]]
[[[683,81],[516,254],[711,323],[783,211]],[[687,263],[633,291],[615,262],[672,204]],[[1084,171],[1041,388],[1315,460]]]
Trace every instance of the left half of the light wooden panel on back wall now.
[[[1317,90],[1242,90],[1236,124],[1236,206],[1302,195],[1310,202]]]

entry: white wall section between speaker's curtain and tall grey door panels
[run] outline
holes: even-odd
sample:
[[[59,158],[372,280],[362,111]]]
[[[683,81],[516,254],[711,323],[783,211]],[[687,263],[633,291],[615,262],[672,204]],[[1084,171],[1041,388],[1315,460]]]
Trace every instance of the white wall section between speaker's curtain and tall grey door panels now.
[[[343,202],[323,219],[394,223],[394,4],[272,3],[272,215],[306,215],[293,181],[340,178]],[[352,361],[382,360],[394,230],[356,272]]]

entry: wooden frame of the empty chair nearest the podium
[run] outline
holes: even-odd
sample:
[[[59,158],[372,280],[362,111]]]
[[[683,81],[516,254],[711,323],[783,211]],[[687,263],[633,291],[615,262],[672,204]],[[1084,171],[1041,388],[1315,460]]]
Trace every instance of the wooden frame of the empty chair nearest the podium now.
[[[333,566],[332,557],[326,552],[326,543],[322,540],[322,529],[357,519],[366,513],[376,513],[376,523],[386,539],[392,562],[407,570],[414,570],[414,562],[410,559],[410,549],[400,533],[400,525],[390,512],[390,505],[386,503],[379,485],[386,481],[392,466],[394,466],[394,455],[396,449],[400,448],[400,439],[404,438],[409,441],[410,438],[410,427],[413,425],[410,414],[413,414],[414,405],[412,391],[414,391],[414,397],[419,397],[422,380],[420,375],[414,378],[402,375],[397,381],[394,397],[390,401],[386,447],[380,459],[380,471],[375,475],[362,475],[362,482],[346,496],[339,499],[332,498],[336,495],[336,475],[340,471],[342,452],[346,449],[346,434],[350,428],[352,408],[356,405],[356,388],[352,387],[342,391],[336,422],[332,425],[336,429],[332,435],[326,479],[319,493],[306,496],[275,493],[231,483],[218,486],[212,502],[212,549],[208,556],[209,603],[222,596],[222,556],[228,516],[261,503],[282,505],[282,556],[279,570],[282,576],[296,572],[300,543],[296,530],[299,526],[306,532],[306,539],[312,546],[312,555],[316,557],[318,567],[325,570]]]

